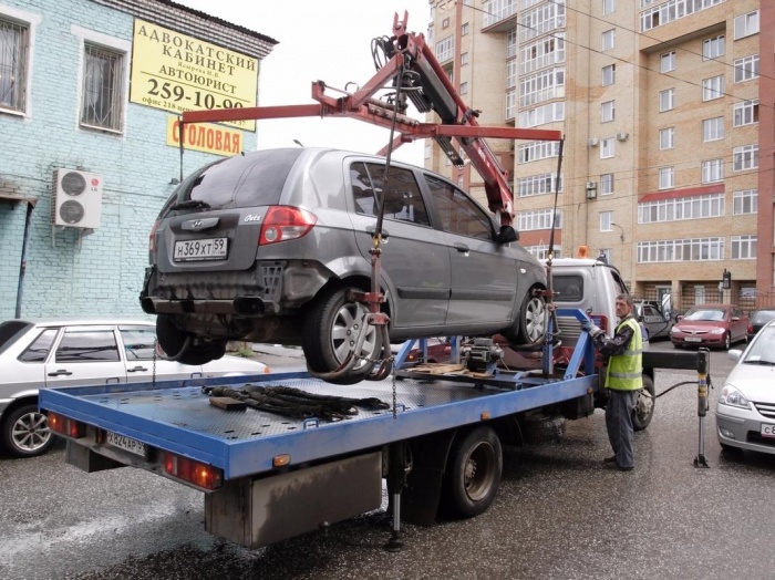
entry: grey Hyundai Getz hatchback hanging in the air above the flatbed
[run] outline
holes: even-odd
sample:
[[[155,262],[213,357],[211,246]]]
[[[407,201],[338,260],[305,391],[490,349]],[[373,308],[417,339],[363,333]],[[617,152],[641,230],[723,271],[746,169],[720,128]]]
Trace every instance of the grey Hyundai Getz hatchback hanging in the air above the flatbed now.
[[[426,169],[392,163],[385,177],[382,157],[294,147],[207,165],[165,204],[141,294],[162,348],[205,362],[228,340],[301,344],[308,369],[330,373],[364,328],[358,365],[341,382],[362,380],[382,336],[364,325],[366,305],[352,291],[371,290],[381,205],[391,342],[542,340],[546,273],[514,228]]]

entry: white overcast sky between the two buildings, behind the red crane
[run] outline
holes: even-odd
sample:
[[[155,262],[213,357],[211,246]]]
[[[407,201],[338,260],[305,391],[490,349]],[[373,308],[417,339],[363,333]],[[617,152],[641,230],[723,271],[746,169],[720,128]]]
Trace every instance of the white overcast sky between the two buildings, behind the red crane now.
[[[314,81],[341,90],[349,82],[363,85],[375,73],[371,40],[390,35],[395,12],[401,18],[409,12],[411,32],[426,33],[430,21],[427,0],[175,1],[279,42],[261,66],[261,106],[316,103],[311,97]],[[258,123],[257,131],[259,149],[294,146],[297,139],[308,147],[376,153],[390,141],[388,128],[337,117],[267,120]],[[401,146],[394,158],[422,165],[423,142]]]

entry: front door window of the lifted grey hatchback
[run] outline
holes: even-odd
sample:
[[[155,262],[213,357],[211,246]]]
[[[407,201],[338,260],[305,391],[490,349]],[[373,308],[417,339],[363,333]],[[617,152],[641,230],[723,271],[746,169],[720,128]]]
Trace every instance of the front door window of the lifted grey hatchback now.
[[[493,221],[468,196],[453,185],[425,176],[444,231],[493,241]]]

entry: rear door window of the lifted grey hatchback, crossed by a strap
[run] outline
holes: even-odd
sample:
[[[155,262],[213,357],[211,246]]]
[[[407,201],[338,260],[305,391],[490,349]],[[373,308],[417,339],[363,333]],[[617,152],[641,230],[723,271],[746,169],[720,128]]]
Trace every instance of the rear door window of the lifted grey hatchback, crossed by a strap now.
[[[354,163],[350,167],[350,182],[355,201],[355,211],[376,217],[379,203],[384,194],[384,218],[409,221],[417,226],[430,226],[427,209],[420,194],[414,174],[407,169],[391,167],[388,185],[384,186],[383,165]]]

